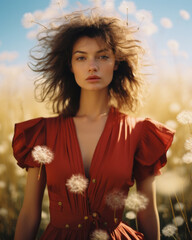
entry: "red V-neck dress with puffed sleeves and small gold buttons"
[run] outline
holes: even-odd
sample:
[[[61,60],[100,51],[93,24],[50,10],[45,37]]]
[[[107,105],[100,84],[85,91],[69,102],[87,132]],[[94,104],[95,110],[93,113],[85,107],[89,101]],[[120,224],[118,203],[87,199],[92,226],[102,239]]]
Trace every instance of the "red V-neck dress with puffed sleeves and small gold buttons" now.
[[[85,176],[85,170],[73,118],[59,115],[16,124],[13,150],[20,167],[39,167],[31,156],[36,145],[54,152],[53,161],[45,167],[50,223],[41,239],[86,240],[97,228],[106,230],[113,240],[144,239],[121,221],[123,208],[116,211],[114,221],[106,195],[114,189],[127,194],[134,179],[159,174],[173,134],[158,122],[133,118],[112,107],[93,155],[88,187],[84,194],[75,194],[66,181],[73,174]]]

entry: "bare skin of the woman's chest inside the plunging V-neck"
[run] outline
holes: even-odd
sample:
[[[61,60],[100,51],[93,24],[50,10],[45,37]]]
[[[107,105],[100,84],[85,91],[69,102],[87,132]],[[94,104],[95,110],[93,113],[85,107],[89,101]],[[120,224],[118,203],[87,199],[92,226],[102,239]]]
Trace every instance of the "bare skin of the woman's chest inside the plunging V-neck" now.
[[[74,118],[74,123],[85,172],[88,173],[98,142],[105,128],[106,117],[97,121]]]

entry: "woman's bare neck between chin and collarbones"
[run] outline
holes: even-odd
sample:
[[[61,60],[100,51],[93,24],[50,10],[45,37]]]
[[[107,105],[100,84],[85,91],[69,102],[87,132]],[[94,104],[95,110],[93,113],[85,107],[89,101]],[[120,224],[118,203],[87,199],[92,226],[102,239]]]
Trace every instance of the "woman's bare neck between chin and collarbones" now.
[[[95,119],[106,115],[109,111],[108,90],[87,91],[82,89],[80,95],[79,110],[77,117],[88,117]]]

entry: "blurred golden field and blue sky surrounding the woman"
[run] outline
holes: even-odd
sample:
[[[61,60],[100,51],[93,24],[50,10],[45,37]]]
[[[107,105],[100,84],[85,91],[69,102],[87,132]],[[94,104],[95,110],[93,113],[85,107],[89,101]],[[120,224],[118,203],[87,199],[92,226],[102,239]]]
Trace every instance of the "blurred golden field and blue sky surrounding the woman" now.
[[[35,75],[27,66],[29,51],[51,18],[100,7],[134,26],[146,49],[149,91],[137,115],[176,130],[168,164],[157,177],[162,239],[190,239],[192,231],[192,2],[189,0],[1,0],[0,2],[0,240],[13,239],[22,205],[26,172],[12,156],[16,122],[51,116],[33,95]],[[179,117],[178,117],[179,115]],[[134,191],[134,188],[133,190]],[[45,193],[38,237],[49,222]],[[127,214],[129,213],[129,214]],[[131,214],[132,213],[132,214]],[[134,209],[124,220],[136,228]],[[174,226],[176,228],[174,228]],[[167,228],[166,228],[167,227]],[[170,228],[168,228],[170,227]],[[167,229],[171,229],[167,231]]]

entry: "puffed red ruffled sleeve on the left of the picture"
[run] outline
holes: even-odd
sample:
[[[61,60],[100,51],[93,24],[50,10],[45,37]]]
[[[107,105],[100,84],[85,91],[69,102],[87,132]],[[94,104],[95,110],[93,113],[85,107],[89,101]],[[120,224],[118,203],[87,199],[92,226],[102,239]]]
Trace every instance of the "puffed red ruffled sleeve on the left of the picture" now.
[[[12,141],[13,155],[17,164],[28,169],[39,167],[32,158],[31,151],[37,145],[45,145],[45,119],[37,118],[15,124]]]

